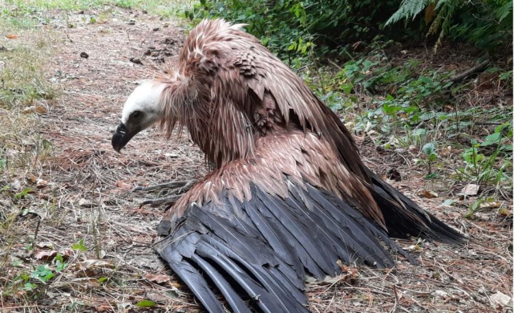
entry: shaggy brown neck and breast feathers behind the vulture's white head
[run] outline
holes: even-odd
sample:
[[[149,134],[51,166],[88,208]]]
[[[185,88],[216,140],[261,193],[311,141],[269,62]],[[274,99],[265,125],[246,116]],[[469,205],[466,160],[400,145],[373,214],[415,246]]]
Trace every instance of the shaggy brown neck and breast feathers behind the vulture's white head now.
[[[160,126],[167,136],[175,127],[179,132],[186,127],[211,169],[254,155],[252,123],[230,100],[213,104],[212,81],[178,76],[173,81],[159,78],[159,82],[167,85],[160,98],[164,108]]]

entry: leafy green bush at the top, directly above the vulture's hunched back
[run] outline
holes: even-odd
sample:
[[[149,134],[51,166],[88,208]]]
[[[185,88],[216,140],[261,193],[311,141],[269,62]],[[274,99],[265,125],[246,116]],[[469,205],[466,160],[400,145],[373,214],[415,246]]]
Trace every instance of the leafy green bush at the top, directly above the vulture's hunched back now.
[[[201,0],[184,16],[195,22],[222,17],[233,23],[246,23],[247,31],[271,51],[306,55],[317,46],[328,52],[339,48],[341,42],[373,38],[384,25],[384,16],[398,3],[399,0]]]

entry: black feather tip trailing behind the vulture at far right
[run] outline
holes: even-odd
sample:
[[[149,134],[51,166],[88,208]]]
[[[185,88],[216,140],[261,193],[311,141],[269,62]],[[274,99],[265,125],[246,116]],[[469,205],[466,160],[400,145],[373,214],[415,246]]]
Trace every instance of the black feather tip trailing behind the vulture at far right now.
[[[405,197],[402,192],[387,184],[369,169],[367,172],[374,187],[371,193],[384,214],[389,236],[397,238],[420,236],[450,245],[463,245],[465,241],[463,234],[419,208],[414,201]]]

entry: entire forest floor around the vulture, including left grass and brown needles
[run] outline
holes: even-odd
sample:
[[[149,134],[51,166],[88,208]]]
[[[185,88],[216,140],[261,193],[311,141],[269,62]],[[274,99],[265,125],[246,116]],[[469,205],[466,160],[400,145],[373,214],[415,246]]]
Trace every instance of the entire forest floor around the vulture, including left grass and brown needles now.
[[[11,106],[7,91],[16,94],[17,87],[2,86],[10,88],[0,98],[2,312],[200,310],[152,250],[164,209],[139,203],[156,195],[130,190],[203,175],[201,151],[185,134],[166,140],[156,129],[139,134],[122,154],[110,145],[125,98],[161,71],[163,59],[176,61],[185,29],[173,18],[104,7],[47,12],[35,28],[0,31],[0,68],[32,55],[45,86],[38,97]],[[441,204],[459,201],[465,185],[435,186],[408,151],[356,140],[368,166],[380,175],[394,168],[402,176],[391,181],[395,188],[471,240],[465,247],[399,240],[419,266],[398,257],[395,268],[350,267],[312,282],[310,310],[512,310],[512,201],[465,218],[467,204]],[[437,196],[426,196],[436,188]]]

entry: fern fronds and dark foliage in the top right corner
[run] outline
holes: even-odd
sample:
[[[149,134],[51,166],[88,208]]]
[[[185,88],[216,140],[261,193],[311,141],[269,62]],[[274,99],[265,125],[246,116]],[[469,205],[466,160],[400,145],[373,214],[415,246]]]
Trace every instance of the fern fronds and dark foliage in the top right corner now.
[[[511,45],[512,10],[512,0],[402,0],[386,25],[415,20],[424,11],[427,36],[437,35],[435,49],[450,37],[492,51]]]

